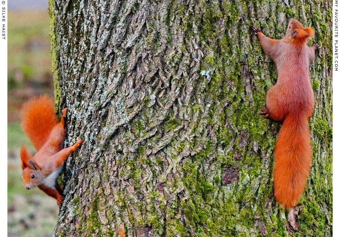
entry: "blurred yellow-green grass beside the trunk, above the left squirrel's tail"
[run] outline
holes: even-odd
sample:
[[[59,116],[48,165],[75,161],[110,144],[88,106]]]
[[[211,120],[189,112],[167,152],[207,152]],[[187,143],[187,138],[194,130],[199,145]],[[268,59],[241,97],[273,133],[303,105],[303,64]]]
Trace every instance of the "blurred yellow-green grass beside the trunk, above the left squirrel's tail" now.
[[[8,88],[23,87],[51,75],[46,11],[8,12]],[[51,79],[51,76],[49,77]]]

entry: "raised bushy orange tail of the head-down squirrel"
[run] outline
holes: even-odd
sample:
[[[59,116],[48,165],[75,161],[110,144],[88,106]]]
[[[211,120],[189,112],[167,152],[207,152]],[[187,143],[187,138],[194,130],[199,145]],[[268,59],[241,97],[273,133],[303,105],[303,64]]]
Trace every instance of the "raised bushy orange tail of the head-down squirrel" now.
[[[21,126],[26,135],[39,150],[47,141],[52,128],[58,123],[53,99],[47,95],[35,97],[23,105]]]

